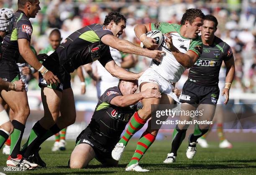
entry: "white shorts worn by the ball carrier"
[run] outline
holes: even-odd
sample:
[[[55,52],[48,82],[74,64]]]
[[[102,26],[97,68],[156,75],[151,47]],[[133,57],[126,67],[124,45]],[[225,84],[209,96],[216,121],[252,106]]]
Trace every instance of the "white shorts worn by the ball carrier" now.
[[[174,90],[174,86],[172,85],[172,82],[166,80],[164,77],[159,75],[156,71],[153,70],[152,67],[149,67],[138,79],[139,87],[143,82],[154,82],[158,84],[161,94],[169,95],[177,103],[180,103],[177,95],[174,94],[174,92],[172,92],[172,90]]]

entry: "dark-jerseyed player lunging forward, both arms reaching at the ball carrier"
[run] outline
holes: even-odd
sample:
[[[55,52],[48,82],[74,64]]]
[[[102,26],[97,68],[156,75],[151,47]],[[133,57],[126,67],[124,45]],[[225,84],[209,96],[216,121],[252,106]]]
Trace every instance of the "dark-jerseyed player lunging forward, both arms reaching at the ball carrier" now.
[[[163,51],[143,49],[131,42],[118,39],[123,34],[125,22],[123,15],[109,13],[103,25],[88,25],[72,33],[44,61],[43,65],[53,71],[59,77],[60,82],[53,84],[52,81],[46,80],[39,74],[44,117],[33,126],[28,139],[30,144],[24,150],[24,157],[30,158],[31,162],[46,166],[39,157],[39,146],[51,135],[75,122],[74,95],[70,84],[71,72],[81,65],[99,60],[111,75],[122,80],[138,80],[141,73],[128,72],[115,64],[109,46],[122,52],[143,55],[156,60],[161,59]],[[41,69],[45,70],[44,66]],[[61,117],[59,117],[59,112]]]

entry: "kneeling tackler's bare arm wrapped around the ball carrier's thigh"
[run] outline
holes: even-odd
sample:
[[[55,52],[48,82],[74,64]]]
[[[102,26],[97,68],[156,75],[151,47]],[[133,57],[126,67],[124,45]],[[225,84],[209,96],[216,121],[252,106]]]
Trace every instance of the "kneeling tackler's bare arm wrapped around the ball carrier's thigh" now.
[[[119,106],[119,107],[126,107],[126,106],[135,104],[136,102],[138,102],[143,98],[161,98],[161,93],[158,90],[156,90],[154,87],[151,87],[136,94],[120,95],[120,96],[114,97],[110,101],[110,104]]]

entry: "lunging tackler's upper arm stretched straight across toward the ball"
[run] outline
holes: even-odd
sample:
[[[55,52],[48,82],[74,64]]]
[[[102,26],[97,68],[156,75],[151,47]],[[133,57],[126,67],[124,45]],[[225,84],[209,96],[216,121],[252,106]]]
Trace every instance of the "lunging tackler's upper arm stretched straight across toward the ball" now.
[[[101,38],[101,41],[105,45],[109,45],[110,47],[113,47],[121,52],[142,55],[145,57],[155,59],[159,62],[161,62],[162,54],[165,53],[164,51],[161,51],[161,50],[143,49],[141,47],[134,45],[133,43],[131,43],[127,40],[121,40],[118,37],[115,37],[113,35],[104,35]]]

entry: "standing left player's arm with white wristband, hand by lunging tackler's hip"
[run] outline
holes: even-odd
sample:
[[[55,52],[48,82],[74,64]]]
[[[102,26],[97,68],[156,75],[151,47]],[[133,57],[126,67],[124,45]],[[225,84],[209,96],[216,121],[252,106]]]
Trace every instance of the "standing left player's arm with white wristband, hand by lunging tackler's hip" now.
[[[41,69],[41,73],[46,80],[47,84],[51,83],[56,83],[59,81],[58,77],[55,76],[51,71],[47,70],[46,67],[44,67],[36,58],[36,55],[30,48],[30,42],[27,39],[18,39],[18,46],[19,46],[19,52],[20,55],[26,60],[26,62],[34,67],[36,70]]]

